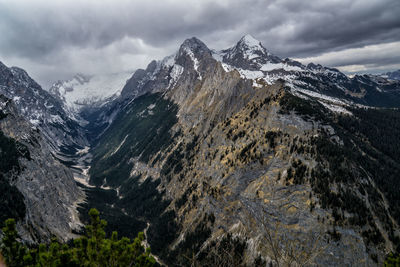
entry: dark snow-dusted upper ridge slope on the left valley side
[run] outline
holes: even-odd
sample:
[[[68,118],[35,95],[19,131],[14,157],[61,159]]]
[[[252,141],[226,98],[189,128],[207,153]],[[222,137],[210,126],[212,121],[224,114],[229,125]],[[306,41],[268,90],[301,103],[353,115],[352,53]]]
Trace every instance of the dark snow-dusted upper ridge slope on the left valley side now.
[[[12,99],[20,114],[41,130],[53,153],[62,155],[87,145],[79,117],[64,110],[62,103],[24,70],[0,62],[0,93]]]

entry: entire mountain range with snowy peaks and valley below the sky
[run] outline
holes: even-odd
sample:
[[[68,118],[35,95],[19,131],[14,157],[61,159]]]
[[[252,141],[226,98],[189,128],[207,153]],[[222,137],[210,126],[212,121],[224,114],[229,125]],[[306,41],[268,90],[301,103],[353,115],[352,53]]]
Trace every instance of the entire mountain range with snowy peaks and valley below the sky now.
[[[400,249],[396,77],[281,59],[250,35],[48,90],[0,64],[18,170],[1,177],[21,212],[6,210],[35,243],[95,207],[168,266],[376,265]]]

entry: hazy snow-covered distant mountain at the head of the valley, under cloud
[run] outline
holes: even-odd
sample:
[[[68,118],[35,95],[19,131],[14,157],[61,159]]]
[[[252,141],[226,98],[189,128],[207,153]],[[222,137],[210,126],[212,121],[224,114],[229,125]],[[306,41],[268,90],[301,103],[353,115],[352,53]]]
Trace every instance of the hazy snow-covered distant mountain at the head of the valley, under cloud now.
[[[131,75],[131,72],[95,76],[77,74],[70,80],[53,84],[49,91],[59,95],[72,111],[79,111],[85,105],[118,96]]]

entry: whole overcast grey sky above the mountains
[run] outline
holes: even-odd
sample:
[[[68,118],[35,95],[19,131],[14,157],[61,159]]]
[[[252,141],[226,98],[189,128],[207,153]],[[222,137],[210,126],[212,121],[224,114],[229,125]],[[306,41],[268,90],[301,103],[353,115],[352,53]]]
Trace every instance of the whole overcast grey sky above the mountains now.
[[[0,0],[0,61],[44,87],[144,68],[192,36],[223,49],[244,34],[348,73],[400,68],[400,0]]]

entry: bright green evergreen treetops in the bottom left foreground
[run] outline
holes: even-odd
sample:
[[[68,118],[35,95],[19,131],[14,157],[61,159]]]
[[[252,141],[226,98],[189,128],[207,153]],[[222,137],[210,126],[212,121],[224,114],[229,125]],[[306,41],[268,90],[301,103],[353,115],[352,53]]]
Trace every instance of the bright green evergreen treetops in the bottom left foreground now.
[[[91,223],[86,226],[86,235],[73,241],[69,247],[53,239],[50,244],[40,244],[37,248],[26,248],[17,241],[15,220],[8,219],[3,228],[4,237],[0,242],[1,253],[6,264],[12,266],[51,267],[151,267],[155,259],[150,248],[142,245],[144,234],[139,233],[131,242],[129,238],[118,239],[117,232],[106,238],[104,228],[107,222],[100,219],[99,212],[91,209]]]

